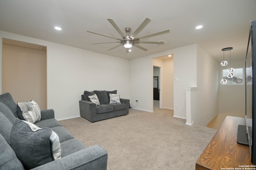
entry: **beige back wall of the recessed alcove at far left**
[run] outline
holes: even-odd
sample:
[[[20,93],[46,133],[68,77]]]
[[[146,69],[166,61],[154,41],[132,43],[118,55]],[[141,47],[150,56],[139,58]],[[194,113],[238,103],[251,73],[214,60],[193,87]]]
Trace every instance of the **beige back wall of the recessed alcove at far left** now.
[[[15,102],[36,101],[46,109],[46,51],[2,45],[2,93]]]

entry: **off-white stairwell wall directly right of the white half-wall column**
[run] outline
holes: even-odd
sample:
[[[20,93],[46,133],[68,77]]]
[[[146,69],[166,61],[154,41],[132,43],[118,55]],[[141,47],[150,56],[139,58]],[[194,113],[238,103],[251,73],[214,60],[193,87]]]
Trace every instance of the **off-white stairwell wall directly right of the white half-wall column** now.
[[[202,47],[196,48],[196,86],[192,101],[192,121],[197,125],[207,126],[218,115],[218,62]]]

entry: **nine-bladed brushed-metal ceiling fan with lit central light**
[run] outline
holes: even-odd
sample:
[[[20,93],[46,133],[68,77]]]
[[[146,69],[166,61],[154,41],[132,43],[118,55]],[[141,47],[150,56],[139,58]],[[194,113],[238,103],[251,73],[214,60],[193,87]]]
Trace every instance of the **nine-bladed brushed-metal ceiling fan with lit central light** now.
[[[148,25],[148,23],[150,23],[151,20],[149,18],[146,18],[140,24],[140,26],[134,31],[134,33],[130,36],[129,36],[129,33],[131,32],[131,28],[129,28],[129,27],[125,28],[125,32],[127,33],[127,36],[125,36],[124,33],[120,30],[120,28],[118,28],[116,23],[111,18],[107,18],[107,20],[116,29],[116,31],[122,36],[122,38],[114,38],[114,37],[105,36],[105,35],[98,34],[98,33],[95,33],[95,32],[90,32],[90,31],[87,31],[87,32],[92,33],[92,34],[97,34],[97,35],[100,35],[100,36],[104,36],[104,37],[108,37],[108,38],[112,38],[112,39],[115,39],[115,40],[119,40],[118,42],[106,42],[106,43],[120,43],[119,45],[116,45],[115,47],[109,49],[108,51],[110,51],[110,50],[112,50],[116,47],[119,47],[120,45],[124,45],[124,47],[126,48],[126,53],[128,53],[129,48],[132,47],[132,46],[135,46],[139,49],[147,51],[148,49],[138,45],[138,43],[162,45],[165,42],[161,42],[161,41],[160,42],[144,42],[144,41],[140,41],[140,40],[170,33],[170,30],[166,30],[166,31],[157,32],[157,33],[154,33],[154,34],[150,34],[150,35],[147,35],[147,36],[142,36],[142,37],[136,38],[136,36]],[[101,44],[101,43],[92,43],[92,44]]]

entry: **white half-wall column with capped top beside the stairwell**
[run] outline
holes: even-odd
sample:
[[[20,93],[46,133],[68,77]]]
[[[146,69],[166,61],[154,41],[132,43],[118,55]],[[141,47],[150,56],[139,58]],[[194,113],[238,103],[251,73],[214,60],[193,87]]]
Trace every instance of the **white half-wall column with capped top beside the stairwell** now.
[[[191,90],[197,90],[197,87],[185,87],[186,90],[186,125],[193,125],[193,120],[192,120],[192,109],[191,109]]]

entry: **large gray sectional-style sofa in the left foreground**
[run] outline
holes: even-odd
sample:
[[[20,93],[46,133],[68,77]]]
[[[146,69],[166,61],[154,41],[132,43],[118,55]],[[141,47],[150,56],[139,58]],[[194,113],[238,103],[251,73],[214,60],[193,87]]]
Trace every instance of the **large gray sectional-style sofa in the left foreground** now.
[[[52,109],[41,111],[41,120],[34,123],[40,127],[40,130],[36,132],[40,132],[39,135],[43,134],[44,136],[35,136],[38,133],[34,133],[27,125],[25,121],[19,119],[17,104],[10,93],[0,95],[0,169],[107,169],[108,154],[106,150],[99,145],[86,147],[82,142],[76,140],[54,119]],[[22,131],[24,129],[25,132]],[[27,136],[28,134],[32,134],[32,136]],[[53,142],[48,140],[50,134],[58,135],[61,158],[54,159],[54,155],[52,156],[54,147]],[[24,142],[22,143],[22,141]]]

